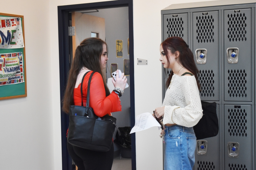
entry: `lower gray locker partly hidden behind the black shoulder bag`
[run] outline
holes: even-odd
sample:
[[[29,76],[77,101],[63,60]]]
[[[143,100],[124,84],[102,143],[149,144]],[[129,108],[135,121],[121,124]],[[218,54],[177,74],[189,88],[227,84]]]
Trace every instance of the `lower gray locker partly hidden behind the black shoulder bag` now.
[[[217,104],[217,115],[219,118],[220,106]],[[219,133],[220,134],[220,133]],[[195,152],[195,170],[214,170],[220,169],[220,152],[219,152],[219,134],[216,137],[209,137],[202,140],[197,140]],[[200,141],[207,142],[207,151],[198,152],[200,149]],[[217,149],[216,149],[217,148]],[[206,149],[206,148],[205,148]],[[201,153],[201,154],[200,154]]]

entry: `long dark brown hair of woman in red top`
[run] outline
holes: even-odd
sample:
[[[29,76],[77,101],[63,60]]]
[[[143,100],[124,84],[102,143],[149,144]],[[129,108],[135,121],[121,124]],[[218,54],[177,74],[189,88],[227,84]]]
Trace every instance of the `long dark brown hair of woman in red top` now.
[[[105,87],[106,97],[110,94],[107,83],[104,79],[103,72],[101,70],[101,54],[103,52],[103,45],[107,43],[99,38],[87,38],[80,43],[76,48],[75,57],[69,70],[68,82],[63,97],[62,110],[66,113],[69,112],[69,106],[74,105],[74,88],[76,85],[76,78],[83,67],[89,70],[99,72]]]

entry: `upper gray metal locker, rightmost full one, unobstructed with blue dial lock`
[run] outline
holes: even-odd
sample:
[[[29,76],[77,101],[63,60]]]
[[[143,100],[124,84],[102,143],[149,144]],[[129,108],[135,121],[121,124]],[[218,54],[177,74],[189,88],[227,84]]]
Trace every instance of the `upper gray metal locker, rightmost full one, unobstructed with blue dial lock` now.
[[[224,11],[224,101],[252,101],[251,15],[251,9]]]

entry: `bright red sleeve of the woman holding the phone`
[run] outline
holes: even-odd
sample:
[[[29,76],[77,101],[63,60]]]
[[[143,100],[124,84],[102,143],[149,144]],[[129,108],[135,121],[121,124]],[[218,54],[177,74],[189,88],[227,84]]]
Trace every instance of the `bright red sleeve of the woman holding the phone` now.
[[[121,101],[115,92],[106,97],[103,79],[98,72],[93,75],[91,81],[90,107],[93,108],[95,115],[99,117],[122,110]]]

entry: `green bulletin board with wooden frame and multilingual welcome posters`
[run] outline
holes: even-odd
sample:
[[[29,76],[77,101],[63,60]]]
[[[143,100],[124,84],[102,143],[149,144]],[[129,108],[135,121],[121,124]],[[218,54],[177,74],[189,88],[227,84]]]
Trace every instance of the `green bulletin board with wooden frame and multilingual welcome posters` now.
[[[12,54],[17,54],[17,56],[19,54],[21,54],[19,56],[19,60],[18,63],[21,64],[19,66],[22,66],[22,71],[20,69],[20,74],[18,76],[16,76],[15,78],[20,78],[20,79],[14,79],[13,78],[13,82],[10,82],[7,78],[7,83],[4,82],[5,84],[4,85],[0,85],[0,100],[5,100],[5,99],[13,99],[13,98],[20,98],[20,97],[27,97],[27,80],[26,80],[26,54],[25,54],[25,33],[24,33],[24,16],[22,15],[13,15],[13,14],[5,14],[5,13],[0,13],[0,17],[15,17],[15,18],[20,18],[20,19],[16,19],[16,23],[15,23],[15,20],[14,20],[14,24],[16,25],[19,25],[21,24],[21,28],[22,28],[22,35],[23,35],[23,44],[22,44],[22,48],[17,48],[17,47],[20,47],[20,46],[17,46],[16,48],[0,48],[0,55],[1,54],[5,54],[5,55],[11,55]],[[2,19],[3,20],[3,19]],[[1,20],[1,21],[2,21]],[[13,20],[13,19],[12,19]],[[17,21],[18,20],[18,21]],[[1,22],[0,21],[0,22]],[[3,24],[0,23],[0,24]],[[8,23],[10,24],[10,22]],[[11,21],[11,24],[12,24],[12,21]],[[2,26],[2,25],[1,25]],[[2,27],[3,28],[3,27]],[[7,25],[6,25],[6,28],[7,28]],[[12,32],[11,32],[12,33]],[[8,35],[8,34],[7,34]],[[13,35],[13,34],[12,34]],[[19,35],[19,34],[17,34]],[[16,35],[16,36],[17,36]],[[6,36],[6,34],[5,34]],[[3,32],[2,32],[2,35],[0,33],[0,45],[2,45],[2,42],[3,42]],[[11,38],[13,38],[14,36],[12,36]],[[8,37],[7,37],[8,38]],[[17,36],[18,38],[18,36]],[[12,41],[12,40],[11,40]],[[18,44],[18,41],[15,41],[17,42],[17,45]],[[4,57],[4,56],[2,56]],[[0,59],[3,59],[3,58],[0,58]],[[16,65],[16,64],[14,64]],[[20,68],[20,67],[19,67]],[[1,68],[3,69],[3,67]],[[18,70],[18,69],[17,69]],[[17,74],[17,73],[16,73]],[[2,76],[3,77],[3,76]],[[0,78],[1,79],[1,78]],[[4,81],[4,80],[2,80]],[[16,82],[14,82],[16,81]],[[19,82],[20,81],[20,82]],[[2,82],[3,83],[3,82]],[[0,81],[0,84],[1,84],[1,81]]]

